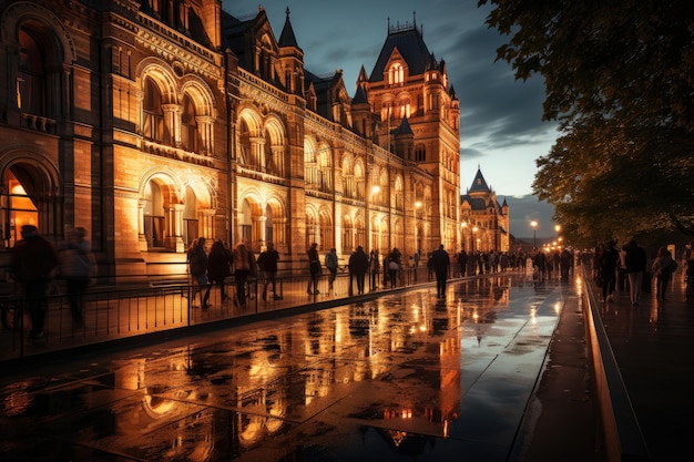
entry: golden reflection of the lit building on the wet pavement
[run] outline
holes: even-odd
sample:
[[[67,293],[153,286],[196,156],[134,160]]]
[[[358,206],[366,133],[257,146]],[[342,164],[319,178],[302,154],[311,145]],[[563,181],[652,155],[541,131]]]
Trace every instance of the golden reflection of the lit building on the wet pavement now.
[[[466,346],[483,342],[508,306],[509,286],[502,277],[476,279],[447,300],[415,291],[288,318],[255,337],[246,330],[123,360],[113,384],[140,398],[109,410],[100,439],[125,439],[151,460],[233,456],[289,433],[364,381],[405,390],[388,402],[374,397],[374,408],[357,415],[378,422],[394,449],[421,438],[409,430],[417,425],[447,438],[460,417]],[[9,399],[11,412],[31,405],[21,390]]]

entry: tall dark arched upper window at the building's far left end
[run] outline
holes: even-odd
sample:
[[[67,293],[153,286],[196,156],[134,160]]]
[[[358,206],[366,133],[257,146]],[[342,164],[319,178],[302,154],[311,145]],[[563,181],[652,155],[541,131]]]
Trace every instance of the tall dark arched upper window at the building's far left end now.
[[[19,73],[17,105],[34,115],[47,114],[47,79],[43,68],[45,58],[41,44],[30,30],[19,30]]]

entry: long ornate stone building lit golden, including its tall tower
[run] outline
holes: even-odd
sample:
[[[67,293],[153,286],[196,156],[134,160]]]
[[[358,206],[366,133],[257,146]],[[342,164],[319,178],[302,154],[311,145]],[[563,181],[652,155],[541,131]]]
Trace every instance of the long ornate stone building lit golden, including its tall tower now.
[[[286,12],[218,0],[0,0],[0,264],[32,223],[89,229],[104,280],[185,273],[195,238],[405,255],[460,247],[459,101],[412,24],[354,97]]]

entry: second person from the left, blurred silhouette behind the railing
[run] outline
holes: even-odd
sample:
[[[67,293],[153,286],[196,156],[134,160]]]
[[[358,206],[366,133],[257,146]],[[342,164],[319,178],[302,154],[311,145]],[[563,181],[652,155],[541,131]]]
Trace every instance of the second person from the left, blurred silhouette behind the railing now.
[[[68,242],[60,253],[60,273],[65,278],[70,312],[75,324],[84,319],[83,295],[94,267],[86,229],[78,227],[68,233]]]

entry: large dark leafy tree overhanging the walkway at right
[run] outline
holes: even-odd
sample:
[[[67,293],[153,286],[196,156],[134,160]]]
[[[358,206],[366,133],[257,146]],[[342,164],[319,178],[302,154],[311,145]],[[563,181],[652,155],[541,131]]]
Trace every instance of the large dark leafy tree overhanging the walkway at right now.
[[[539,74],[562,135],[533,193],[569,238],[694,235],[694,16],[688,0],[480,0],[497,59]]]

